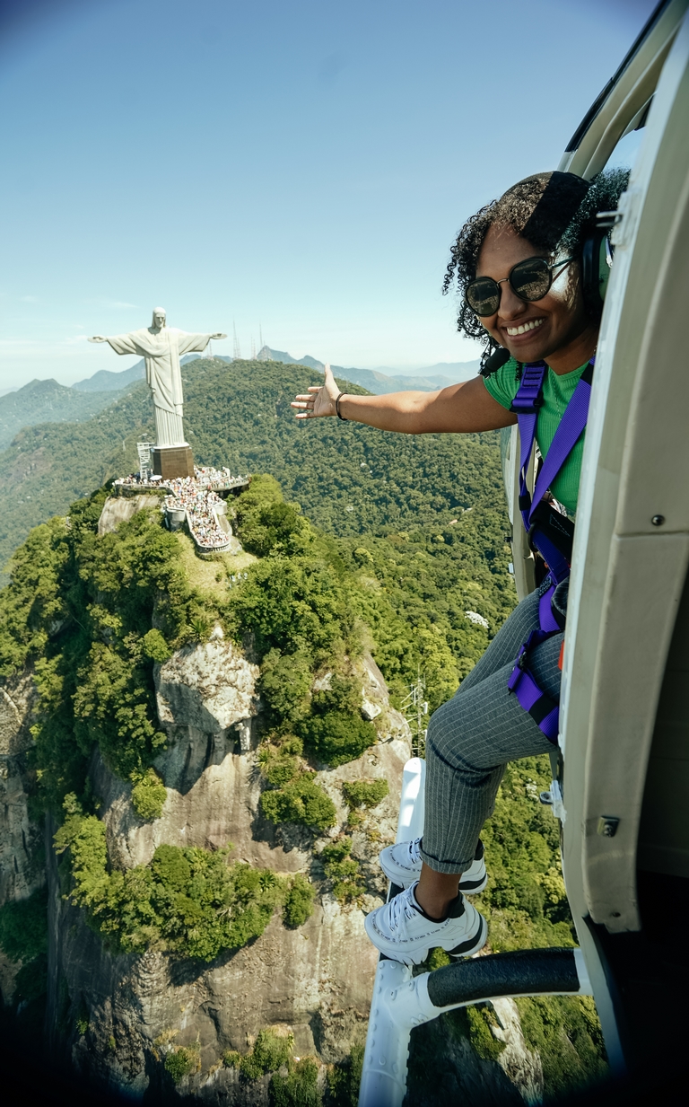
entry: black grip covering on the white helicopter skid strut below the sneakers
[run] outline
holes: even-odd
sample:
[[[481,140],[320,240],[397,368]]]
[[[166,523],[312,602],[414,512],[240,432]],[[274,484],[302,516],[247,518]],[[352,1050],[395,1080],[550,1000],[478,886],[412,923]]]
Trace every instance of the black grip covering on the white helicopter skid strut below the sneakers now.
[[[560,948],[490,953],[436,969],[428,976],[428,999],[436,1007],[501,995],[566,995],[580,990],[574,950]]]

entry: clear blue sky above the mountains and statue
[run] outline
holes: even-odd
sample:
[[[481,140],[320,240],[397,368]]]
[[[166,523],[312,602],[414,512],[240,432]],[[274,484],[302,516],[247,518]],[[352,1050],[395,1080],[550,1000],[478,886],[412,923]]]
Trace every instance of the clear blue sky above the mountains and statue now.
[[[0,389],[148,325],[295,356],[476,356],[440,294],[481,204],[552,168],[653,0],[7,0]]]

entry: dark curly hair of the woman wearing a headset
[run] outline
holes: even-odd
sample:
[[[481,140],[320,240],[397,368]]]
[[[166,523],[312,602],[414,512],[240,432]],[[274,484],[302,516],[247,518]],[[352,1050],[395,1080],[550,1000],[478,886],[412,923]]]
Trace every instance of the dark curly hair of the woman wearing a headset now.
[[[458,331],[486,343],[486,359],[497,346],[478,315],[464,300],[464,290],[476,277],[481,247],[493,224],[511,227],[532,246],[550,255],[557,250],[577,255],[584,239],[596,229],[598,211],[614,211],[627,187],[629,169],[604,169],[591,184],[573,173],[536,173],[491,200],[461,228],[450,252],[442,281],[443,294],[456,284],[460,297]],[[599,309],[588,306],[592,315]]]

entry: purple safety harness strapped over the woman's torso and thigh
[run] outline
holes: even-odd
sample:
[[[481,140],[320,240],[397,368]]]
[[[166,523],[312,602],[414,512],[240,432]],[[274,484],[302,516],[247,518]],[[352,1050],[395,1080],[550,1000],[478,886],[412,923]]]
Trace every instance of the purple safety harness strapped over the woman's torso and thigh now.
[[[533,499],[526,487],[526,469],[536,433],[539,407],[543,404],[543,380],[547,372],[545,362],[524,365],[520,386],[512,402],[512,411],[516,414],[521,439],[519,508],[522,513],[529,541],[547,566],[550,588],[539,602],[539,630],[532,631],[520,646],[514,669],[508,681],[508,689],[510,692],[514,692],[520,705],[529,712],[545,737],[554,744],[557,742],[560,704],[551,700],[539,687],[533,673],[528,668],[528,660],[531,650],[562,630],[553,614],[551,600],[557,584],[570,576],[570,562],[562,549],[558,548],[558,545],[562,544],[553,541],[552,523],[550,527],[542,527],[539,518],[534,519],[534,514],[586,426],[594,364],[595,358],[592,358],[560,421],[547,456],[536,478]],[[551,520],[554,515],[557,518],[556,513],[551,513]],[[563,519],[562,516],[560,518]],[[555,526],[557,525],[555,524]],[[572,525],[568,524],[568,526],[571,528]]]

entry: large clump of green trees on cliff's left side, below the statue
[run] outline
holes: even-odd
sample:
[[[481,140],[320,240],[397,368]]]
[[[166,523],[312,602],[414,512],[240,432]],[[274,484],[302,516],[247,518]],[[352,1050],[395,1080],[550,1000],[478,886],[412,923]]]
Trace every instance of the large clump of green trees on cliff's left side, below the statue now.
[[[32,532],[0,592],[0,664],[6,674],[34,666],[32,763],[39,801],[55,814],[67,793],[83,794],[94,745],[123,778],[143,778],[166,741],[154,660],[186,640],[196,602],[177,540],[155,514],[140,511],[97,537],[105,496]],[[163,630],[152,630],[154,609]]]

